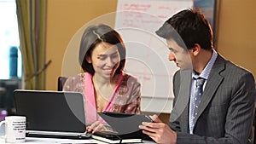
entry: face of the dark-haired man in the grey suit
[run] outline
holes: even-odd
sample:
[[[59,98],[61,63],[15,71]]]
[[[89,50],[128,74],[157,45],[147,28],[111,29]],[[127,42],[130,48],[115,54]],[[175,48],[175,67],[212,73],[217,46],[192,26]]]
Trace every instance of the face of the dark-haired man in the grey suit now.
[[[170,49],[169,60],[173,60],[176,66],[182,70],[192,68],[192,62],[189,52],[180,47],[172,38],[166,40],[167,46]]]

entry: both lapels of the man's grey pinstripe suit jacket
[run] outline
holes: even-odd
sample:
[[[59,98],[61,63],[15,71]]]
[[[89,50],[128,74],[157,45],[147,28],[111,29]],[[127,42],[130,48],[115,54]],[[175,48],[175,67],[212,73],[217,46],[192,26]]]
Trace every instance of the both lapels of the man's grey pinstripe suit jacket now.
[[[224,70],[224,67],[225,67],[225,60],[223,57],[218,55],[216,61],[212,66],[211,73],[207,79],[207,85],[204,89],[204,92],[201,98],[201,104],[198,108],[198,115],[197,115],[198,117],[195,119],[195,123],[197,119],[201,116],[201,113],[206,109],[209,102],[212,100],[212,97],[215,94],[216,90],[218,89],[218,86],[222,83],[224,78],[219,73]],[[176,85],[179,86],[180,89],[178,90],[175,106],[172,108],[170,122],[174,122],[177,120],[177,118],[182,117],[180,119],[182,121],[181,123],[183,124],[181,129],[182,131],[188,131],[191,71],[181,71],[179,79],[180,79],[179,81],[180,84],[176,84]]]

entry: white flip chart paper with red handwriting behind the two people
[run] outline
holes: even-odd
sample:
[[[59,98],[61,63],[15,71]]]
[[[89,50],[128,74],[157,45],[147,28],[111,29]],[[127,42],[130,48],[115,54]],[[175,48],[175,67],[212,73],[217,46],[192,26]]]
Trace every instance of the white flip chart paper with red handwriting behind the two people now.
[[[154,32],[173,14],[192,5],[192,0],[118,1],[115,29],[125,42],[125,72],[139,79],[143,96],[173,97],[172,76],[177,66],[168,60],[166,41]]]

